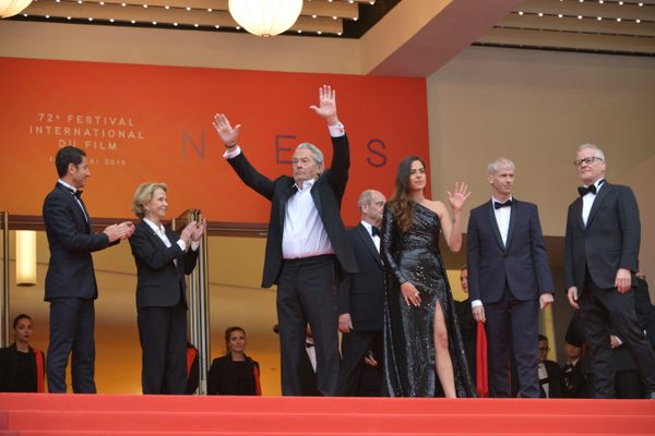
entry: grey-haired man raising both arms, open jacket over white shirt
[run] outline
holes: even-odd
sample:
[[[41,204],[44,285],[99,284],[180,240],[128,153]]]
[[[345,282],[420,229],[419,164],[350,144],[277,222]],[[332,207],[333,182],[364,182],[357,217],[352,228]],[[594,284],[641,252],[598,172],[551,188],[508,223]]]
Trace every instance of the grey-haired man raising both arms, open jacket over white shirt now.
[[[357,271],[353,249],[341,219],[341,202],[348,181],[350,155],[344,126],[336,116],[336,95],[330,86],[319,90],[319,107],[332,136],[332,165],[324,169],[323,154],[312,144],[298,145],[294,177],[271,180],[246,159],[224,114],[214,128],[227,147],[225,157],[248,186],[271,202],[262,287],[277,284],[277,317],[282,355],[282,392],[303,395],[300,368],[309,322],[317,352],[317,387],[333,396],[338,376],[337,287],[346,274]]]

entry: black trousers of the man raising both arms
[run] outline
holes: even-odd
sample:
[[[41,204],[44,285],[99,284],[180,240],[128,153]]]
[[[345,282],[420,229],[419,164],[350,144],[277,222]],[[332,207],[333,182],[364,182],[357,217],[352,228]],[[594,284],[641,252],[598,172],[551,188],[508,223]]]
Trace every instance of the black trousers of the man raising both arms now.
[[[286,259],[277,281],[277,319],[282,358],[282,393],[302,396],[301,371],[307,365],[307,323],[317,352],[317,388],[334,396],[338,376],[336,257]]]

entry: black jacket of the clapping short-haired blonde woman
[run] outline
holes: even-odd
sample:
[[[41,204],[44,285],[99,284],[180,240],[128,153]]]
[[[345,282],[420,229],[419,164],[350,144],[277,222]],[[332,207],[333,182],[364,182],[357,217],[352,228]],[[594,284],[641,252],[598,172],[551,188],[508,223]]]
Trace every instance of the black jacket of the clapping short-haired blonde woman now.
[[[187,304],[184,275],[191,274],[198,261],[198,250],[183,252],[177,244],[179,235],[166,231],[167,247],[146,222],[139,222],[130,238],[136,262],[136,307],[171,307],[181,301]],[[174,264],[177,259],[177,267]]]

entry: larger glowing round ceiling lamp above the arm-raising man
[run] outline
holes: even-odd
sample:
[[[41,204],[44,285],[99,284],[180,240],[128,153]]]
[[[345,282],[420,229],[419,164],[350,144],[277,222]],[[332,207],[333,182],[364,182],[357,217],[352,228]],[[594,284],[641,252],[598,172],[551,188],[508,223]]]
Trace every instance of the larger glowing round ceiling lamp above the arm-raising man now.
[[[246,31],[264,38],[288,31],[301,10],[302,0],[229,0],[233,19]]]

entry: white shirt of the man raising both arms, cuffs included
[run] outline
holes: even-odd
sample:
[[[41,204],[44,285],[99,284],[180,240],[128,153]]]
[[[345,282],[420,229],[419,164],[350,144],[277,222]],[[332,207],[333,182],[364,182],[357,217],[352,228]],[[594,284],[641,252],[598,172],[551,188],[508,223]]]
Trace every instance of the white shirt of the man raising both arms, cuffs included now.
[[[327,129],[332,137],[345,134],[342,123],[329,125]],[[241,148],[236,145],[231,150],[227,149],[223,157],[231,159],[239,154],[241,154]],[[295,184],[297,191],[287,201],[282,233],[282,256],[285,259],[334,254],[334,249],[311,196],[311,187],[314,183],[315,180],[305,181],[302,189]]]

